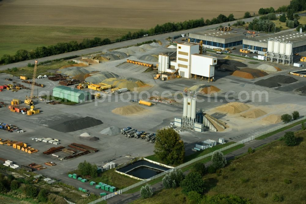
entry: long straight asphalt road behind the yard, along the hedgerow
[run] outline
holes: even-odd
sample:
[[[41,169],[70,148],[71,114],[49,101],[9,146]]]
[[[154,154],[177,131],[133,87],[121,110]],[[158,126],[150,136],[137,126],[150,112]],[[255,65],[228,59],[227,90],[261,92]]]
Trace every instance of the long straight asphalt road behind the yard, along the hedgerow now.
[[[244,22],[250,22],[254,18],[256,18],[256,17],[247,18],[247,19],[243,19],[243,20],[244,20]],[[230,22],[224,22],[222,24],[207,25],[207,26],[203,26],[203,27],[199,27],[199,28],[192,28],[192,29],[189,29],[189,30],[181,30],[181,31],[165,33],[165,34],[161,34],[161,35],[148,36],[148,37],[138,38],[138,39],[134,39],[134,40],[127,40],[127,41],[122,41],[122,42],[118,42],[118,43],[113,43],[113,44],[109,44],[109,45],[91,47],[91,48],[78,50],[78,51],[73,51],[73,52],[66,52],[66,53],[59,54],[59,55],[52,55],[52,56],[49,56],[49,57],[38,58],[36,60],[38,60],[39,62],[43,62],[43,61],[47,61],[47,60],[54,60],[54,59],[60,59],[60,58],[64,58],[64,57],[70,57],[70,56],[73,56],[73,55],[86,55],[86,54],[89,54],[89,53],[107,51],[107,50],[110,50],[110,49],[116,49],[116,48],[119,48],[119,47],[132,46],[132,45],[135,45],[137,43],[142,43],[142,42],[148,41],[148,40],[163,40],[163,39],[166,39],[169,36],[176,36],[176,35],[181,35],[181,34],[185,34],[185,33],[199,32],[199,31],[203,31],[203,30],[207,30],[207,29],[213,29],[213,28],[219,27],[219,25],[226,26],[228,23],[230,23],[232,25],[233,23],[236,23],[236,22],[237,22],[237,20],[236,21],[230,21]],[[22,47],[20,47],[20,49],[22,49]],[[13,67],[27,66],[28,62],[33,63],[34,59],[3,65],[3,66],[0,66],[0,70],[6,70],[8,68],[11,69]]]

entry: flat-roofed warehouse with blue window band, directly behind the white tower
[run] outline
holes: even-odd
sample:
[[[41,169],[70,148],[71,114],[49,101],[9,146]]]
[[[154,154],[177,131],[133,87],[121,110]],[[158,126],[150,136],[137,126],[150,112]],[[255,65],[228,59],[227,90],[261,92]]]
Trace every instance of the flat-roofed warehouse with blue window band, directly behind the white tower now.
[[[210,49],[222,48],[224,50],[225,48],[241,45],[244,35],[233,32],[206,30],[189,33],[189,38],[192,43],[200,43],[202,40],[203,47]]]

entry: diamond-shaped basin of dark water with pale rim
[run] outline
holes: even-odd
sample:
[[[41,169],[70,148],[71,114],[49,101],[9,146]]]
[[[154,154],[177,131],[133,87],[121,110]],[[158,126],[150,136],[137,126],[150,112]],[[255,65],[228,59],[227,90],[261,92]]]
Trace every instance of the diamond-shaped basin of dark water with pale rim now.
[[[148,161],[139,160],[121,169],[117,169],[117,171],[135,176],[140,179],[148,179],[159,173],[167,171],[168,169],[170,168],[166,168],[158,164],[153,164]]]

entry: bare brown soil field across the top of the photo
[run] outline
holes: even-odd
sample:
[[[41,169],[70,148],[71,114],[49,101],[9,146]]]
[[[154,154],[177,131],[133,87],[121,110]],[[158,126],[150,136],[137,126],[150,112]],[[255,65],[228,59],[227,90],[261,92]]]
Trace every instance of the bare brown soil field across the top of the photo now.
[[[2,25],[53,25],[104,28],[151,28],[165,22],[211,19],[220,13],[243,17],[259,8],[288,5],[290,0],[210,1],[194,0],[3,0],[0,2]],[[243,6],[242,6],[243,5]]]

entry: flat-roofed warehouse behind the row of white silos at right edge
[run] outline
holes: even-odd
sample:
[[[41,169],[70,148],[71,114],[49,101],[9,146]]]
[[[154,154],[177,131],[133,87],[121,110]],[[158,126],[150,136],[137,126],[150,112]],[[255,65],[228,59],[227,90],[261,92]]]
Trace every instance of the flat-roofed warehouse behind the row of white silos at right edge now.
[[[297,31],[278,32],[265,36],[243,39],[243,48],[253,52],[258,51],[258,54],[264,55],[268,48],[268,38],[292,43],[292,53],[306,51],[306,34]]]

